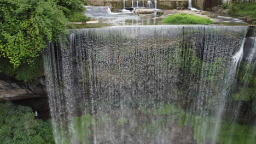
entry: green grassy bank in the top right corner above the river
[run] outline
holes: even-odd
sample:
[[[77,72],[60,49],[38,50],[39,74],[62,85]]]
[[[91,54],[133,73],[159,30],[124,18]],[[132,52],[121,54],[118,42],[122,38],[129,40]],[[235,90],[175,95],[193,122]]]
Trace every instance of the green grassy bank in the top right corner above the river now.
[[[233,2],[223,7],[228,8],[229,14],[252,17],[256,20],[256,2]]]

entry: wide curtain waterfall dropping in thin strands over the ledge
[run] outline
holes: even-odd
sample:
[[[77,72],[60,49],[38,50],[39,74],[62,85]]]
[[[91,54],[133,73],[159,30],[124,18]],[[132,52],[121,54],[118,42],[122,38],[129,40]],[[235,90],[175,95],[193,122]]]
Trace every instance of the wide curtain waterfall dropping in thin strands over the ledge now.
[[[60,35],[44,49],[56,143],[217,141],[241,59],[254,63],[243,52],[247,29],[123,26]]]

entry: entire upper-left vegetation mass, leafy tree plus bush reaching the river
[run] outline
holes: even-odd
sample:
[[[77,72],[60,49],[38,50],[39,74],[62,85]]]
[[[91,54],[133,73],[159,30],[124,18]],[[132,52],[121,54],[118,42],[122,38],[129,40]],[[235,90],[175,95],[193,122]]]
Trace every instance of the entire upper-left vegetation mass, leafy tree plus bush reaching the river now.
[[[32,79],[31,70],[37,70],[35,61],[48,41],[67,33],[69,21],[88,20],[80,13],[83,6],[84,0],[1,0],[0,62],[4,65],[0,72],[24,81]],[[20,73],[20,69],[31,70]]]

